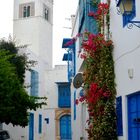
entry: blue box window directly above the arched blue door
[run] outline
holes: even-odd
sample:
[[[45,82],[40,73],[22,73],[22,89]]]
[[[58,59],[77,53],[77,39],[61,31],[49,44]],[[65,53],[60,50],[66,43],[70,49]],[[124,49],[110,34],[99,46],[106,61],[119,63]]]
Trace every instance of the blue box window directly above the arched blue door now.
[[[59,107],[67,107],[69,108],[71,106],[71,100],[70,100],[70,85],[59,85],[58,86],[58,106]]]

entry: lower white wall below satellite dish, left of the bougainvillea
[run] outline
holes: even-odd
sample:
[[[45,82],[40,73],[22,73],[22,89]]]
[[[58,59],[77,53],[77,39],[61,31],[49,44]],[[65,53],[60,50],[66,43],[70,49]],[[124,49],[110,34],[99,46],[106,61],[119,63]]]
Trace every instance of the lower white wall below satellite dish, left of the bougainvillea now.
[[[74,92],[76,89],[71,88],[71,124],[72,124],[72,140],[80,140],[83,138],[87,140],[87,132],[85,131],[87,127],[88,113],[86,110],[86,105],[79,103],[76,105],[76,119],[74,120]],[[80,98],[81,88],[76,90],[76,99]]]

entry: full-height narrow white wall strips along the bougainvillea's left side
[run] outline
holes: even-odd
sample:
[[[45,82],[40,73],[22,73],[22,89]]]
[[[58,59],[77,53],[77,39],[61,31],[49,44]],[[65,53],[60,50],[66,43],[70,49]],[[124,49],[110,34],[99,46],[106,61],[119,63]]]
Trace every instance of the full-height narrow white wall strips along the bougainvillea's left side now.
[[[79,29],[79,10],[77,8],[77,13],[75,17],[75,21],[73,24],[72,37],[75,37],[78,34]],[[83,63],[83,59],[80,58],[79,50],[79,38],[77,38],[76,43],[76,74],[81,72],[81,65]],[[73,87],[73,83],[71,85],[71,123],[72,123],[72,140],[80,140],[80,138],[87,139],[87,133],[85,131],[86,128],[86,120],[88,119],[86,108],[84,104],[79,103],[76,105],[76,120],[74,120],[74,92],[76,91],[76,98],[79,98],[81,88],[75,89]]]

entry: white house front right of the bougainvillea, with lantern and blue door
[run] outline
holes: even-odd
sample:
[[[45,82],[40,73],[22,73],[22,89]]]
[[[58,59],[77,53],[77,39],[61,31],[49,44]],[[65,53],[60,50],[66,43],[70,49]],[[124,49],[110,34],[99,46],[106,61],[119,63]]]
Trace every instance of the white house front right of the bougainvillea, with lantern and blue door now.
[[[140,1],[124,2],[124,6],[132,11],[124,12],[123,15],[117,14],[119,9],[117,6],[122,2],[123,0],[111,1],[110,7],[117,102],[119,108],[122,108],[120,109],[122,116],[119,117],[118,122],[118,138],[119,140],[138,140],[140,138],[140,26],[135,21],[140,23]]]

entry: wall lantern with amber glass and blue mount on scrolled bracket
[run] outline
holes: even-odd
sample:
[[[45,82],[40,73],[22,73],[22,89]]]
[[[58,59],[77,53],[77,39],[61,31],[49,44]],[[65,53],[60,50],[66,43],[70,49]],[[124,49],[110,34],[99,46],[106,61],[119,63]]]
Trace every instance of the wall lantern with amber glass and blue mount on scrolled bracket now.
[[[140,21],[133,21],[136,15],[135,0],[116,0],[118,14],[123,16],[123,26],[127,25],[129,29],[135,25],[140,28]]]

